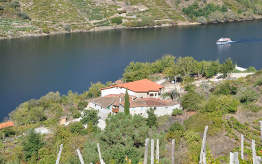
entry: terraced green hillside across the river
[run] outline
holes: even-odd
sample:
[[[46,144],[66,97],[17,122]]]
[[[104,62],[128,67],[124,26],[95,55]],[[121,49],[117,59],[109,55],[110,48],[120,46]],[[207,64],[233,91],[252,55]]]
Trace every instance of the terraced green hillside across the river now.
[[[261,1],[1,0],[0,38],[254,19]]]

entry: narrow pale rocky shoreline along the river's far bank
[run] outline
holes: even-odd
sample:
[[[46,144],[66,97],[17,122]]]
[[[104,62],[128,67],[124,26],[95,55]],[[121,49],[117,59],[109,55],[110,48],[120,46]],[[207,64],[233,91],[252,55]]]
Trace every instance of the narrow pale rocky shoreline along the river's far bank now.
[[[154,28],[154,27],[170,27],[170,26],[187,26],[187,25],[206,25],[206,24],[216,24],[216,23],[226,23],[226,22],[238,22],[238,21],[252,21],[256,19],[262,19],[262,16],[256,16],[253,19],[240,19],[240,20],[230,20],[230,21],[222,21],[222,22],[215,22],[215,23],[198,23],[198,22],[189,22],[189,21],[178,21],[177,24],[172,25],[172,24],[164,24],[164,25],[154,25],[154,26],[145,26],[145,27],[125,27],[123,25],[118,25],[118,26],[110,26],[110,27],[93,27],[90,30],[75,30],[71,32],[66,32],[66,31],[59,31],[59,32],[52,32],[49,34],[24,34],[21,36],[14,36],[14,37],[0,37],[0,40],[5,40],[5,39],[12,39],[12,38],[27,38],[27,37],[39,37],[39,36],[51,36],[51,35],[56,35],[56,34],[72,34],[76,32],[102,32],[106,30],[115,30],[115,29],[143,29],[143,28]]]

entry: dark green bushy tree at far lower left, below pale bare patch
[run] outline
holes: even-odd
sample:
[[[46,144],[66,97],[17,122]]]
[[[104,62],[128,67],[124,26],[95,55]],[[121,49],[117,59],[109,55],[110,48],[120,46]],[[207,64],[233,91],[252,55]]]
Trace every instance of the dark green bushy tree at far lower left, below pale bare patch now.
[[[21,144],[23,145],[26,161],[29,161],[34,153],[38,155],[38,150],[45,146],[45,142],[43,141],[41,134],[35,132],[34,130],[29,131]]]

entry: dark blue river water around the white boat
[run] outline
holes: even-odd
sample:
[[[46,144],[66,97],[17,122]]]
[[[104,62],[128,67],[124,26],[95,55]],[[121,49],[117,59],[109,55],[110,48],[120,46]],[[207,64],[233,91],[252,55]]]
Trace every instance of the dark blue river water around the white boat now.
[[[216,45],[220,37],[235,43]],[[83,93],[91,82],[115,81],[130,62],[164,54],[261,69],[262,20],[80,32],[0,40],[0,121],[29,99],[49,91]]]

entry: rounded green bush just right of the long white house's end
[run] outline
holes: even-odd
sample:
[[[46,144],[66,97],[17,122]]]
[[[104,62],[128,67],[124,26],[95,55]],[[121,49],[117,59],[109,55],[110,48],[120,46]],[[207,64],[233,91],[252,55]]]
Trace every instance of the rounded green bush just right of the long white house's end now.
[[[182,97],[182,106],[188,111],[197,111],[200,109],[200,104],[203,99],[204,97],[198,95],[198,93],[188,92]]]

